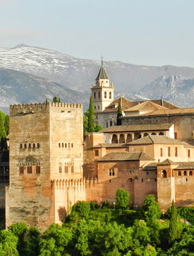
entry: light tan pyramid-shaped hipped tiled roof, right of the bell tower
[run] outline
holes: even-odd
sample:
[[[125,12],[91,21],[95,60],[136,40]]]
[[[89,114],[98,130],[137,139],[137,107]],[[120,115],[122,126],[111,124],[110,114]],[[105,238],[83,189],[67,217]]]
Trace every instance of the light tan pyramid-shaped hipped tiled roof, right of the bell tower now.
[[[140,111],[140,110],[141,111],[152,111],[152,110],[158,110],[158,109],[168,109],[168,108],[163,107],[161,105],[158,105],[158,104],[148,100],[148,101],[142,102],[141,104],[138,104],[134,107],[126,109],[125,112]]]

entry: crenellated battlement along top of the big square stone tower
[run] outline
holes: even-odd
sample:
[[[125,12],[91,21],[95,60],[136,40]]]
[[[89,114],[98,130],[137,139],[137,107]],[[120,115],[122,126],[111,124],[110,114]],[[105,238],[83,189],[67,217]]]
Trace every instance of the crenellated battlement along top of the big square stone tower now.
[[[26,104],[14,104],[10,105],[10,112],[29,112],[40,110],[40,109],[46,109],[46,108],[53,108],[53,107],[61,107],[61,108],[67,108],[67,109],[75,109],[75,108],[83,108],[82,104],[76,104],[76,103],[54,103],[54,102],[48,102],[47,104],[44,103],[26,103]]]

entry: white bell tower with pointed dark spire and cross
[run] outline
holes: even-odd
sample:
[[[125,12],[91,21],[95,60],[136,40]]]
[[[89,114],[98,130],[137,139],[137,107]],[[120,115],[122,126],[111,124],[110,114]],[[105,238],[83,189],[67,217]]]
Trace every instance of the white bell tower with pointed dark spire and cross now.
[[[96,84],[92,83],[91,95],[94,104],[94,112],[102,112],[114,100],[114,87],[113,83],[110,85],[110,79],[103,66],[103,57],[101,62],[100,71],[96,76]]]

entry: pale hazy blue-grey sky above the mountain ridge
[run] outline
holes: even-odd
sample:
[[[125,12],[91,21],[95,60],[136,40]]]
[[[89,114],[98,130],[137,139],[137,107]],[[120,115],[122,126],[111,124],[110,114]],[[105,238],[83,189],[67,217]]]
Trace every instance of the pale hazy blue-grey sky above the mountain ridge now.
[[[0,0],[0,47],[194,67],[193,0]]]

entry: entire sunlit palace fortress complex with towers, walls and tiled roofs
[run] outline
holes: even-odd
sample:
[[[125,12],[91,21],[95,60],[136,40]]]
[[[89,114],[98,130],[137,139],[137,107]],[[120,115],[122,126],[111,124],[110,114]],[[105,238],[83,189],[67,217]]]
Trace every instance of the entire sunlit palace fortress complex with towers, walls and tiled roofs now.
[[[91,95],[103,130],[85,141],[80,104],[10,105],[10,162],[0,165],[9,166],[0,183],[6,227],[25,222],[44,230],[61,223],[78,200],[114,202],[119,188],[129,192],[131,207],[141,207],[148,194],[162,211],[173,199],[177,207],[193,206],[194,108],[114,100],[103,63]],[[119,101],[123,117],[116,126]]]

